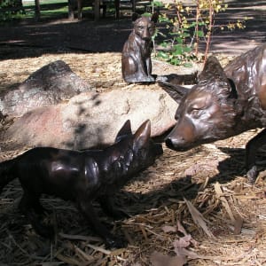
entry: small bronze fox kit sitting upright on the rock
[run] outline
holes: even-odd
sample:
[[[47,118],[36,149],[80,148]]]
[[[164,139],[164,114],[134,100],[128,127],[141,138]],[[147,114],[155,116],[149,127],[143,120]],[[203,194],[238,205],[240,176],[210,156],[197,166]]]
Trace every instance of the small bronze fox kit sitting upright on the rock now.
[[[121,56],[122,76],[125,82],[154,82],[152,75],[151,53],[153,50],[152,36],[158,13],[152,17],[138,17],[133,14],[133,31],[124,44]]]

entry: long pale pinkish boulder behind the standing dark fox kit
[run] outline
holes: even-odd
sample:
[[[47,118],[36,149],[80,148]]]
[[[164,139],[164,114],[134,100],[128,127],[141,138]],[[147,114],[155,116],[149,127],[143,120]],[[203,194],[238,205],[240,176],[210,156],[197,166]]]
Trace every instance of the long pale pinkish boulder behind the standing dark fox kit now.
[[[68,102],[25,113],[2,136],[19,146],[84,149],[113,143],[130,119],[133,131],[150,119],[152,136],[175,124],[176,102],[161,89],[83,92]]]

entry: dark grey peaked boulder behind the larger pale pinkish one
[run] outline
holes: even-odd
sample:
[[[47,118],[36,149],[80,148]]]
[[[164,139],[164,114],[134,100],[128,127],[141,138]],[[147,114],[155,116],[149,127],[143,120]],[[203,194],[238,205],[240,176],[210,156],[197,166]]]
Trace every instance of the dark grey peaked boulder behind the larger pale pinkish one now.
[[[0,112],[10,117],[21,116],[36,107],[55,105],[88,90],[90,85],[58,60],[35,71],[17,88],[2,92]]]

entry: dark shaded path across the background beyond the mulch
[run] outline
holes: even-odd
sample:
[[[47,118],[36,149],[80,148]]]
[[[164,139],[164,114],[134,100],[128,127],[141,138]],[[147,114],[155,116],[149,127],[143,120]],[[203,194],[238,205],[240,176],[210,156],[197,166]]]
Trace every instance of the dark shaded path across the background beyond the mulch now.
[[[246,20],[246,28],[221,31],[217,27],[211,51],[235,55],[265,42],[266,1],[227,2],[228,9],[215,17],[215,25]],[[21,20],[20,23],[0,27],[0,47],[5,48],[0,50],[0,59],[35,57],[51,52],[121,52],[130,31],[129,17],[121,20],[107,18],[99,22],[94,22],[92,18],[82,21],[43,20],[39,23]],[[9,51],[6,46],[17,49]],[[204,43],[201,48],[203,46]]]

